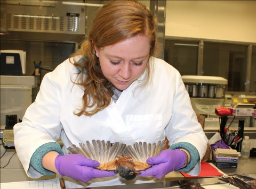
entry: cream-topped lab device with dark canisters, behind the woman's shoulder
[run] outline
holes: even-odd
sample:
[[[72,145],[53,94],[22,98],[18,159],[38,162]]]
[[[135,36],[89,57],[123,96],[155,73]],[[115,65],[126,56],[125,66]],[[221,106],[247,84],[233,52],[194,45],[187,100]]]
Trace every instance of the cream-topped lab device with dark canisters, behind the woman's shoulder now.
[[[183,75],[181,78],[196,113],[215,115],[215,108],[224,105],[225,86],[228,80],[217,76],[202,75]]]

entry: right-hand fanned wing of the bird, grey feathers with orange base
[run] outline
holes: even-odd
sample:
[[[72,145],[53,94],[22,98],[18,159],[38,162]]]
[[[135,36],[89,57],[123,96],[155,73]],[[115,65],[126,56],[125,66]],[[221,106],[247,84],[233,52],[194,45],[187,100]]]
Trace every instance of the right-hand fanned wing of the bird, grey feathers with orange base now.
[[[147,164],[147,159],[158,156],[159,153],[163,151],[165,144],[166,140],[158,141],[153,144],[136,142],[133,145],[127,145],[124,154],[132,158],[134,169],[136,171],[145,170],[151,167],[151,165]]]

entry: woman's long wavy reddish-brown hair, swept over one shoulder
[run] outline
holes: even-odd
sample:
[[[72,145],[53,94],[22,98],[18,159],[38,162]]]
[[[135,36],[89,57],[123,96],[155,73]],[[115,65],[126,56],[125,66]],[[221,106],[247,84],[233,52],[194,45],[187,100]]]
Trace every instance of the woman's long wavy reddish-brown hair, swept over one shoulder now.
[[[94,45],[100,49],[143,35],[150,39],[149,57],[152,57],[157,50],[156,28],[156,18],[145,5],[137,1],[110,1],[99,8],[88,39],[82,42],[77,53],[70,56],[79,70],[75,84],[84,88],[83,105],[78,109],[78,113],[74,113],[75,115],[92,116],[98,113],[110,104],[114,94],[111,90],[112,84],[101,71]],[[83,59],[77,61],[76,57]],[[145,80],[140,87],[146,86],[150,81],[149,62],[146,66]]]

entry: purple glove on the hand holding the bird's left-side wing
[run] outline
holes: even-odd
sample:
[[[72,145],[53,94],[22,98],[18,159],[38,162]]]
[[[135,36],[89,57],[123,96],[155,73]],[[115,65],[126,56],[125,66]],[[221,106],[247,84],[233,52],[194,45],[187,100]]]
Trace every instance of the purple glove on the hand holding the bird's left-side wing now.
[[[81,154],[68,154],[67,156],[59,154],[55,159],[55,167],[61,176],[68,176],[85,183],[92,178],[116,175],[114,171],[93,168],[99,165],[98,161],[87,159]]]

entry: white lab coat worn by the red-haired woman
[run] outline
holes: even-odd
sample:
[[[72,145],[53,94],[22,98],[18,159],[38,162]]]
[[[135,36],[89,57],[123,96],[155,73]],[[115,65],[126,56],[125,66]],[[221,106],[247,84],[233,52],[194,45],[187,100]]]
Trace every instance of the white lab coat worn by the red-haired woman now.
[[[112,101],[107,108],[91,117],[74,115],[82,105],[83,89],[71,82],[76,80],[74,73],[77,73],[77,68],[69,59],[47,73],[22,123],[14,126],[15,149],[27,175],[32,178],[42,176],[29,166],[30,158],[38,147],[58,140],[60,135],[65,154],[72,144],[86,141],[99,139],[129,145],[139,141],[162,141],[166,135],[169,145],[177,142],[193,144],[202,159],[207,138],[191,107],[179,72],[161,59],[153,58],[151,61],[154,62],[154,74],[146,89],[133,92],[138,81],[132,83],[116,103]],[[145,73],[139,81],[143,77]],[[196,175],[199,171],[198,163],[190,173]],[[157,181],[156,178],[145,181],[147,179],[136,177],[127,182],[118,176],[96,178],[84,183],[83,187]],[[82,187],[73,179],[65,177],[65,180],[70,181],[66,182],[67,187]]]

